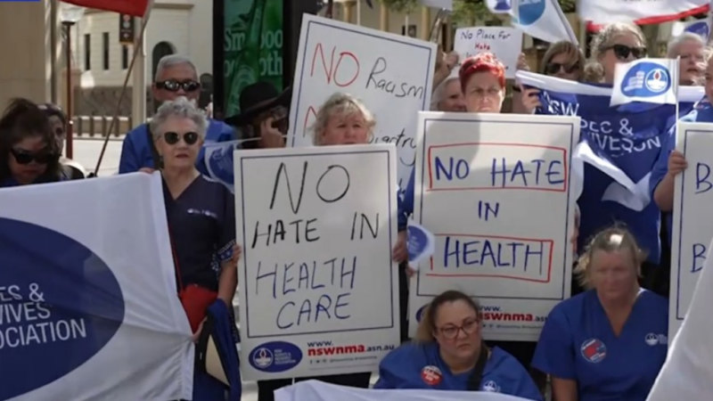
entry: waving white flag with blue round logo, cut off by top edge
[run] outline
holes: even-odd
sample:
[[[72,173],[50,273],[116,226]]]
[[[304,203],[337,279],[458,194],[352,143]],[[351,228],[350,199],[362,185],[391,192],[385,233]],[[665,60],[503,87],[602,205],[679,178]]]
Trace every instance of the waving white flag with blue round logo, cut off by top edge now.
[[[550,43],[566,40],[579,45],[557,0],[511,0],[511,3],[513,27]]]

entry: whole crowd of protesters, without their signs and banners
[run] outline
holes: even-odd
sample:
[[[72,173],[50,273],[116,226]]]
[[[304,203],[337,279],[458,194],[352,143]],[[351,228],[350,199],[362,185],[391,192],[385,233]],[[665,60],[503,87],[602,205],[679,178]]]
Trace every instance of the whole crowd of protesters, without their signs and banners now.
[[[646,54],[641,29],[613,23],[594,37],[589,60],[577,45],[555,43],[545,53],[539,72],[611,86],[618,63]],[[713,121],[708,101],[713,95],[713,58],[701,37],[676,37],[668,45],[668,57],[680,57],[682,86],[705,86],[706,93],[693,111],[676,118]],[[530,70],[524,57],[518,68]],[[432,110],[502,111],[509,83],[503,63],[491,53],[463,61],[454,53],[443,54],[436,69]],[[241,253],[240,244],[235,243],[233,194],[208,177],[204,147],[239,138],[250,139],[243,143],[245,149],[284,147],[291,97],[289,89],[281,94],[258,82],[244,89],[241,115],[222,122],[207,119],[196,108],[200,87],[198,71],[189,59],[164,57],[152,84],[152,94],[162,105],[151,122],[127,134],[119,163],[119,174],[158,171],[162,177],[178,272],[176,291],[184,305],[190,304],[186,299],[193,300],[186,312],[196,335],[209,303],[219,299],[232,305],[235,266]],[[515,84],[512,91],[512,112],[537,114],[541,106],[537,89]],[[350,94],[336,93],[319,109],[311,131],[317,146],[365,144],[377,124],[364,103]],[[0,119],[0,187],[84,178],[86,172],[61,158],[66,127],[67,116],[52,104],[12,101]],[[499,391],[539,400],[543,399],[545,375],[549,375],[557,401],[643,401],[667,352],[670,266],[661,255],[671,241],[674,177],[686,168],[684,155],[674,151],[674,128],[669,129],[668,140],[652,166],[650,184],[662,220],[647,221],[635,210],[622,211],[611,202],[591,199],[585,173],[578,233],[573,238],[578,281],[573,283],[573,297],[548,316],[537,343],[483,340],[478,302],[458,291],[446,291],[433,299],[418,335],[408,339],[406,219],[414,209],[412,176],[399,202],[399,238],[392,255],[399,265],[405,344],[382,360],[374,387]],[[652,237],[661,241],[646,240]],[[661,242],[663,247],[657,246]],[[646,246],[640,246],[643,243]],[[367,388],[370,373],[317,379]],[[272,400],[275,389],[292,381],[260,381],[260,401]],[[201,386],[216,392],[199,399],[222,399],[220,382],[197,378],[196,387]]]

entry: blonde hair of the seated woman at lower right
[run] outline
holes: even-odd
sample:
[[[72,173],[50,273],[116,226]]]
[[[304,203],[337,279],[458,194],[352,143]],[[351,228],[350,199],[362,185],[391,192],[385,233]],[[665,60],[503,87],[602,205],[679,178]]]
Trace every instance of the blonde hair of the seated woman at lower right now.
[[[641,275],[641,265],[646,260],[646,252],[639,248],[632,233],[622,226],[615,225],[596,233],[586,245],[585,252],[579,257],[574,274],[577,276],[579,285],[583,288],[587,290],[592,288],[592,282],[589,280],[591,273],[589,267],[592,265],[592,256],[597,250],[605,252],[627,250],[634,258],[632,262],[636,266],[636,276]]]

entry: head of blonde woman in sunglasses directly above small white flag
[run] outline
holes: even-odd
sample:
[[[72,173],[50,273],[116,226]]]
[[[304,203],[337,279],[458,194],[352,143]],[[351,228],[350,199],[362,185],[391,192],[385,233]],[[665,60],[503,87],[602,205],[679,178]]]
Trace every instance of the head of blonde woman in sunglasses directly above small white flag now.
[[[646,57],[646,39],[641,29],[626,22],[611,23],[592,39],[592,61],[586,66],[586,80],[611,85],[619,62],[643,57]]]

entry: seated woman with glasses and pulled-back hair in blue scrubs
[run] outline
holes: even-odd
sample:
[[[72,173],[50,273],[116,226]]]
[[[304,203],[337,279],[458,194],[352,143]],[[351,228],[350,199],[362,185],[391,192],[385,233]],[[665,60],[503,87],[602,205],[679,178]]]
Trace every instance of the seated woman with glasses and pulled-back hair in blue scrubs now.
[[[525,368],[480,337],[479,307],[460,291],[434,298],[423,315],[416,341],[389,353],[379,366],[374,389],[493,391],[541,400]]]

